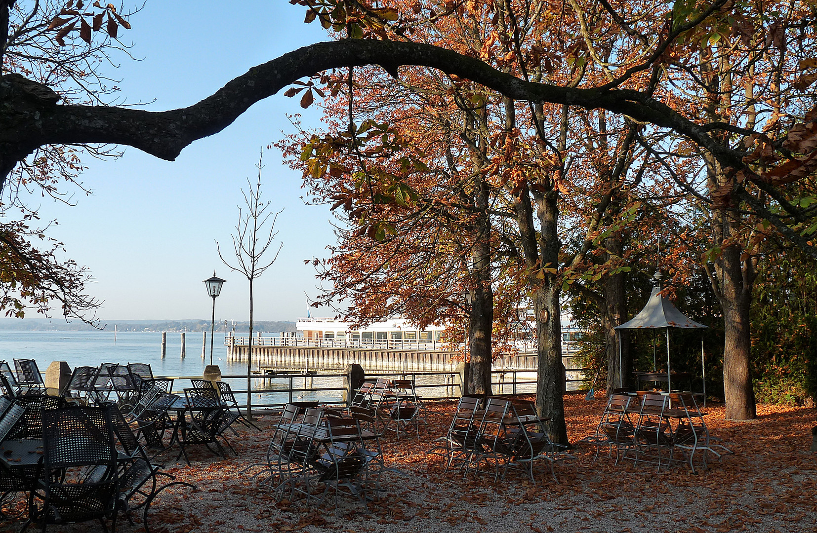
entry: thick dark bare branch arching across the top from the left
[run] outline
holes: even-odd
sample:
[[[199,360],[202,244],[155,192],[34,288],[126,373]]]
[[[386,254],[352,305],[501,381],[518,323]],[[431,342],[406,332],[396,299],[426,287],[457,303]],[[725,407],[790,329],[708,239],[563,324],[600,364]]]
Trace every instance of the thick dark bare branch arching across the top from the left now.
[[[380,64],[440,69],[471,79],[514,100],[608,109],[686,135],[725,165],[742,167],[743,153],[718,143],[705,128],[649,95],[631,90],[559,87],[525,82],[455,51],[416,42],[346,39],[319,42],[249,69],[215,94],[182,109],[150,112],[108,106],[60,105],[48,87],[18,74],[0,80],[0,187],[16,165],[43,144],[126,144],[175,159],[194,140],[229,126],[252,104],[300,78],[328,69]]]

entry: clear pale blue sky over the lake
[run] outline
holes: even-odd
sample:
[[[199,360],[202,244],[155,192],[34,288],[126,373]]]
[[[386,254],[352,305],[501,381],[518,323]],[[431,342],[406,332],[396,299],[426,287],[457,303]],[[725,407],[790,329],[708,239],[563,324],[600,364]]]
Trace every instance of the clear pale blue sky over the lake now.
[[[319,24],[303,24],[303,18],[304,8],[283,0],[148,0],[123,36],[144,60],[123,58],[109,75],[123,80],[129,103],[155,99],[145,107],[150,110],[186,106],[253,65],[327,40]],[[319,124],[314,107],[304,112],[306,126]],[[209,319],[212,300],[202,280],[216,269],[227,280],[217,320],[247,320],[248,282],[221,264],[214,241],[230,247],[239,189],[254,175],[259,150],[282,130],[292,131],[286,115],[301,111],[297,97],[275,95],[225,131],[196,141],[176,162],[132,148],[116,161],[88,158],[81,177],[93,194],[77,191],[75,207],[33,198],[34,205],[42,202],[43,220],[59,221],[52,234],[69,256],[90,269],[95,282],[88,290],[105,300],[100,318]],[[283,251],[256,283],[256,318],[294,320],[306,315],[304,293],[316,293],[315,270],[303,260],[324,256],[334,242],[331,215],[328,207],[301,202],[301,176],[283,166],[280,153],[267,151],[265,163],[266,198],[286,209],[277,224]]]

